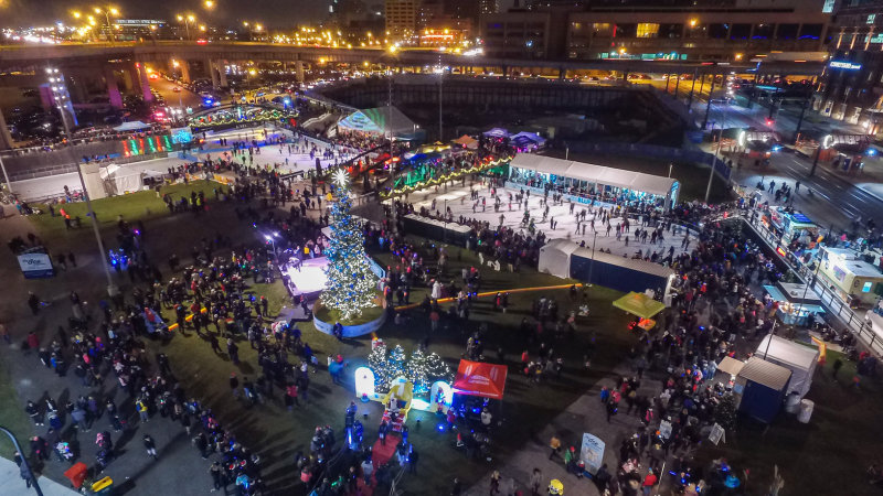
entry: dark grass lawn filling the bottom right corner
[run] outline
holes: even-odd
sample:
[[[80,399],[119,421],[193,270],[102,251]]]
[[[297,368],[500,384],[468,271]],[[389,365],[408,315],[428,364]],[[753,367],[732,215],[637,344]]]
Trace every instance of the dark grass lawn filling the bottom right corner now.
[[[700,459],[725,456],[740,475],[748,468],[749,494],[766,494],[762,490],[768,489],[774,465],[785,478],[783,495],[880,494],[879,487],[868,484],[864,470],[881,462],[876,433],[883,389],[868,378],[860,388],[852,386],[855,364],[845,359],[833,379],[831,364],[840,356],[828,352],[825,367],[816,369],[807,395],[816,403],[809,423],[798,422],[784,410],[768,430],[741,418],[737,434],[727,432],[726,444],[706,442]]]

